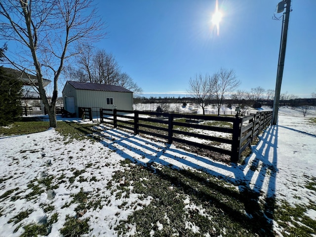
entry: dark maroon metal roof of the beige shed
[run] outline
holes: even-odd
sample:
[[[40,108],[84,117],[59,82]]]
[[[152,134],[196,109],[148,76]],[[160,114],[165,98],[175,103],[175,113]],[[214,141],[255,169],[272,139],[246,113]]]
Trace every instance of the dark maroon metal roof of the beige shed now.
[[[131,92],[132,91],[125,89],[119,85],[106,85],[106,84],[97,84],[97,83],[89,83],[89,82],[79,82],[79,81],[67,81],[71,84],[75,89],[79,90],[99,90],[99,91],[116,91],[116,92]]]

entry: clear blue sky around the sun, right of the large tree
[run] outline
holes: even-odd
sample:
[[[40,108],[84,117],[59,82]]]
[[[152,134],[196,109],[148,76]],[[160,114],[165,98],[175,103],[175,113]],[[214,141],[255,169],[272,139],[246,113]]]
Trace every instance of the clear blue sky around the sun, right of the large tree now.
[[[144,96],[186,96],[189,79],[234,69],[238,89],[275,89],[280,0],[96,0],[108,35],[95,46],[112,52]],[[316,0],[292,0],[281,93],[316,92]],[[281,13],[277,14],[281,16]]]

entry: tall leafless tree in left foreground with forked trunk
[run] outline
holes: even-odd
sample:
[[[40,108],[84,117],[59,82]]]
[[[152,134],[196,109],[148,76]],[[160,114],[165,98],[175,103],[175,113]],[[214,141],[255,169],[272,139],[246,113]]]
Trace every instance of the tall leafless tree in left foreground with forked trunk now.
[[[89,13],[87,13],[89,12]],[[57,127],[55,104],[64,61],[76,54],[73,44],[103,37],[102,22],[91,0],[0,1],[0,37],[18,45],[15,58],[6,58],[20,71],[34,73],[35,85],[47,110],[49,126]],[[49,101],[43,78],[53,75]]]

